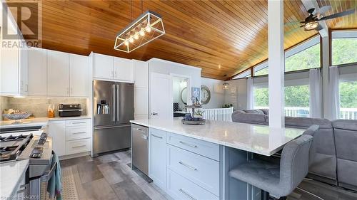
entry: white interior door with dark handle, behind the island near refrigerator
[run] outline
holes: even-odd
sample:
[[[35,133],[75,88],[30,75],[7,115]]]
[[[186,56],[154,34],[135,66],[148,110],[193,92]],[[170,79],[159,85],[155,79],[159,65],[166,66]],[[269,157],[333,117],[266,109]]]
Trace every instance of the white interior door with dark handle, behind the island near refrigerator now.
[[[150,119],[171,119],[170,75],[150,73]]]

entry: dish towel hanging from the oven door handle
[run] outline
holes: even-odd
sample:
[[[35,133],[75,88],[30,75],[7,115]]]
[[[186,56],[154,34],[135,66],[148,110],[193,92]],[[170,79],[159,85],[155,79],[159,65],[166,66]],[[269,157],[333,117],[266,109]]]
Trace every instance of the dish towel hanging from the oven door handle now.
[[[53,154],[51,166],[54,166],[54,164],[57,164],[57,166],[56,169],[54,169],[54,175],[51,177],[51,179],[49,179],[47,191],[49,192],[50,199],[54,199],[56,196],[57,200],[61,200],[61,165],[59,164],[59,157],[56,155],[56,153]]]

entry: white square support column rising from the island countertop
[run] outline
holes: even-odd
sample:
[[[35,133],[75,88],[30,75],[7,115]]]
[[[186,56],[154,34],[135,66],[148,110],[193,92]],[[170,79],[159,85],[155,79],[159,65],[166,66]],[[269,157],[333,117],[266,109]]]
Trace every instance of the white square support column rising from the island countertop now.
[[[268,0],[269,127],[285,127],[283,0]]]

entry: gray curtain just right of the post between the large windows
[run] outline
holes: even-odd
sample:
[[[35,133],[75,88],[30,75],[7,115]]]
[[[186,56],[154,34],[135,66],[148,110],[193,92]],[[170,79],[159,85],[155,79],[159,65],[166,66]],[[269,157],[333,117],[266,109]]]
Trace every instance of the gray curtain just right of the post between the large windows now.
[[[331,120],[336,120],[340,117],[339,76],[338,68],[335,66],[330,67],[328,95],[331,107]]]

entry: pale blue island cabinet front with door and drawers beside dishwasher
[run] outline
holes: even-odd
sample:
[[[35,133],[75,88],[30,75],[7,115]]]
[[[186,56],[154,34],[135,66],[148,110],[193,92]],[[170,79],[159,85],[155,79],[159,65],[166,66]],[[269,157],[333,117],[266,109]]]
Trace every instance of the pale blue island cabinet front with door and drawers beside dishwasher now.
[[[174,199],[220,199],[218,144],[149,128],[149,177]]]

